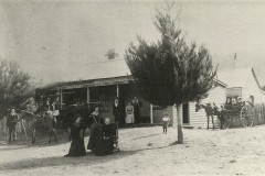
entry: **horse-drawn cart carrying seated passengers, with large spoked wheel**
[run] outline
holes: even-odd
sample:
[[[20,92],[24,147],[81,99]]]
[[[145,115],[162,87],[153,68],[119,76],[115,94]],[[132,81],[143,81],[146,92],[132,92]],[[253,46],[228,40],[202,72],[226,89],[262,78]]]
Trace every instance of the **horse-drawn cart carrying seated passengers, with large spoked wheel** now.
[[[242,88],[226,89],[226,99],[242,98]],[[229,128],[231,124],[240,121],[244,128],[251,128],[254,124],[254,105],[251,101],[244,100],[231,105],[224,105],[225,125]]]

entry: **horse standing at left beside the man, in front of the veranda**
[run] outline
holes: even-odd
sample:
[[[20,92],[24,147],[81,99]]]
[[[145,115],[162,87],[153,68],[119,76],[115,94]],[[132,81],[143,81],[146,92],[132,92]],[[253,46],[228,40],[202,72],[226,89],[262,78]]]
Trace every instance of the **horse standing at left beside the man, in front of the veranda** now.
[[[36,131],[47,131],[50,136],[49,143],[51,143],[52,136],[57,142],[56,130],[54,128],[55,122],[49,111],[44,111],[42,114],[34,114],[33,112],[22,110],[20,117],[21,120],[28,122],[29,129],[31,129],[32,144],[35,143]]]

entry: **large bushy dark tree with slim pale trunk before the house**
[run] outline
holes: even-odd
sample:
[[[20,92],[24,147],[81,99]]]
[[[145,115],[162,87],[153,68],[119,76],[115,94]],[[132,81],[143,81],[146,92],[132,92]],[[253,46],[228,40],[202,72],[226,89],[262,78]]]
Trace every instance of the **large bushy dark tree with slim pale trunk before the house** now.
[[[157,11],[153,24],[161,38],[148,43],[137,36],[138,45],[128,46],[125,59],[140,97],[157,106],[177,106],[177,142],[183,143],[180,105],[205,97],[216,69],[204,46],[187,44],[170,10]]]

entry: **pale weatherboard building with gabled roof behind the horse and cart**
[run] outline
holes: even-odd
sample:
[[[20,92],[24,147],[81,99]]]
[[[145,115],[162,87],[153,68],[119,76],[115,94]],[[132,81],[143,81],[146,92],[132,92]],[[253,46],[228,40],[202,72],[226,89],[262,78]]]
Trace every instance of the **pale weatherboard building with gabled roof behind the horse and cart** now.
[[[203,99],[202,103],[214,102],[221,106],[225,103],[226,97],[236,98],[239,96],[254,105],[265,103],[265,91],[261,89],[258,78],[252,67],[220,70],[215,80],[215,86],[209,91],[208,98]],[[188,112],[184,112],[186,109],[189,109]],[[205,111],[195,112],[195,102],[182,105],[182,110],[183,125],[206,128]],[[218,117],[214,117],[214,121],[218,123]],[[210,128],[211,125],[210,123]]]

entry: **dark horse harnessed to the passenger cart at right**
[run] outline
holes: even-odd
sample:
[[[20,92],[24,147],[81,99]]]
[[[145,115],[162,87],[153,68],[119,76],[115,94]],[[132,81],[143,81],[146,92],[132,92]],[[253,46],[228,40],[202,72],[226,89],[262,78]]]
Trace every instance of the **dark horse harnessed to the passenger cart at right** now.
[[[210,117],[212,118],[212,124],[213,124],[213,130],[214,130],[214,121],[213,121],[213,116],[218,116],[220,118],[220,110],[218,109],[218,107],[215,106],[215,103],[213,103],[213,106],[211,103],[206,103],[203,105],[201,102],[197,102],[195,103],[195,112],[198,112],[200,109],[204,109],[205,113],[206,113],[206,118],[208,118],[208,128],[206,130],[209,130],[209,121],[210,121]]]

